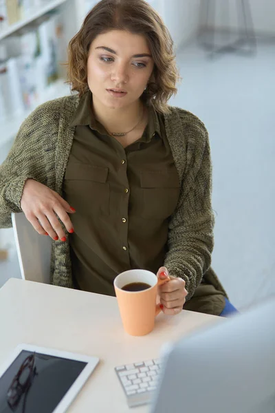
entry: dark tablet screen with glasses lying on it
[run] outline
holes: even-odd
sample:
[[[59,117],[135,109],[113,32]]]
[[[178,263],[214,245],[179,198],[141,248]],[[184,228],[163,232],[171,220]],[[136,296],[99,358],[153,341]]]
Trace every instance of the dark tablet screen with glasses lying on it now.
[[[0,413],[52,413],[85,366],[22,350],[0,378]]]

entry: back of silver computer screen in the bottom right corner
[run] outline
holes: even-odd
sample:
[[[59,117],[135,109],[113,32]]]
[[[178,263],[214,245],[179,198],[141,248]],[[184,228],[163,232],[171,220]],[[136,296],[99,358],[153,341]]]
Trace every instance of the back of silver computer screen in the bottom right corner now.
[[[166,350],[151,413],[275,412],[275,297]]]

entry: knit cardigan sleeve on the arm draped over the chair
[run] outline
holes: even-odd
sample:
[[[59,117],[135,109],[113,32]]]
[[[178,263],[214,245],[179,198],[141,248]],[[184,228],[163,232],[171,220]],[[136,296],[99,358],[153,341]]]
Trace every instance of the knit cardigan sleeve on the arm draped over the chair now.
[[[0,165],[0,228],[12,226],[11,213],[21,212],[21,196],[28,178],[54,188],[56,103],[44,103],[25,119]]]

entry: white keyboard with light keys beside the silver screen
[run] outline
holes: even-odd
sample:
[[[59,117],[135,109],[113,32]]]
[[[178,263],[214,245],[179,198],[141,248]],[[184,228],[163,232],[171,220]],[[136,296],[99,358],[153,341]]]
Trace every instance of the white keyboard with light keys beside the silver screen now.
[[[150,403],[157,387],[160,369],[160,359],[115,367],[129,407]]]

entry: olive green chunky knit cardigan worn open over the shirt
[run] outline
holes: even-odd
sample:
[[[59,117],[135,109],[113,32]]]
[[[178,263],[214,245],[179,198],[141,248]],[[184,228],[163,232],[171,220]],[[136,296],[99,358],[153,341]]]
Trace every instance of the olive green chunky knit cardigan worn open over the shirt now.
[[[28,178],[63,195],[63,179],[75,131],[69,123],[78,102],[78,95],[51,100],[37,107],[21,125],[8,157],[0,166],[0,228],[12,226],[11,213],[22,211],[21,196]],[[214,219],[208,132],[201,120],[178,107],[170,106],[164,123],[181,187],[177,207],[169,220],[164,266],[170,275],[185,280],[187,300],[203,276],[226,295],[210,268]],[[68,237],[66,242],[52,242],[51,267],[52,284],[73,287]]]

